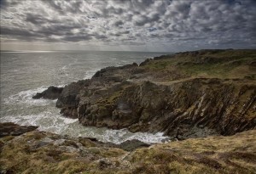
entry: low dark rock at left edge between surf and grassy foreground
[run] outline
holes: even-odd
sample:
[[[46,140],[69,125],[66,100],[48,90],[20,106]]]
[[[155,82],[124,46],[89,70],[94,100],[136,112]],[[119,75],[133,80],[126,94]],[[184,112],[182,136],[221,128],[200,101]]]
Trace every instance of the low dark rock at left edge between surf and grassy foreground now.
[[[38,126],[19,126],[12,122],[0,123],[0,138],[18,136],[36,130]]]

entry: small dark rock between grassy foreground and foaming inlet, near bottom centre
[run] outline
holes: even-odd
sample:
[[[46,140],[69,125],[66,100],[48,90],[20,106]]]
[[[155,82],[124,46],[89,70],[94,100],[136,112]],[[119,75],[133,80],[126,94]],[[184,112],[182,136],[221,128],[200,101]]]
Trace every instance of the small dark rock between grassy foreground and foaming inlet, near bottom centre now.
[[[148,143],[143,143],[137,139],[127,140],[123,143],[120,143],[118,147],[126,151],[133,151],[138,148],[147,148],[150,145]]]

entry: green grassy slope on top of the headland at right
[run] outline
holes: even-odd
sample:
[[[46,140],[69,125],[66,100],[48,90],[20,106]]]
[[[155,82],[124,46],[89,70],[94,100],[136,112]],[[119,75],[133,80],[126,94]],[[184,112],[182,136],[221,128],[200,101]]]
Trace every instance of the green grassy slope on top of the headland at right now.
[[[155,59],[144,67],[154,73],[169,70],[184,76],[211,76],[217,78],[243,78],[256,74],[250,63],[256,61],[255,50],[226,50],[199,54],[177,54],[166,59]],[[172,79],[172,78],[170,78]]]

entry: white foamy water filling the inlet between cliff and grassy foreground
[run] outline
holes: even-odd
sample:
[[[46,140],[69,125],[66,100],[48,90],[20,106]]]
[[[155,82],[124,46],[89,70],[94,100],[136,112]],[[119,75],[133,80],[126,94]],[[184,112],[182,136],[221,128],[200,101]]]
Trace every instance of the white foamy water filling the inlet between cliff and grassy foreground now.
[[[112,130],[82,126],[78,119],[70,119],[61,116],[56,111],[45,111],[38,115],[7,115],[1,118],[1,122],[14,122],[19,125],[39,126],[38,130],[67,134],[72,137],[97,138],[102,142],[123,143],[127,140],[137,139],[144,143],[161,143],[167,137],[163,133],[129,132],[127,129]]]

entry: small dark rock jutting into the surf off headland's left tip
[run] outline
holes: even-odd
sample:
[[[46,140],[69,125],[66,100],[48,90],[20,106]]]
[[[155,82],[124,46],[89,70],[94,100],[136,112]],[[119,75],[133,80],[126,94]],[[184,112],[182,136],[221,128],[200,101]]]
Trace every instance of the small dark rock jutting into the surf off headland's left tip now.
[[[45,98],[45,99],[56,99],[59,98],[61,95],[61,92],[63,90],[63,87],[48,87],[44,92],[37,93],[32,98],[38,99],[38,98]]]

